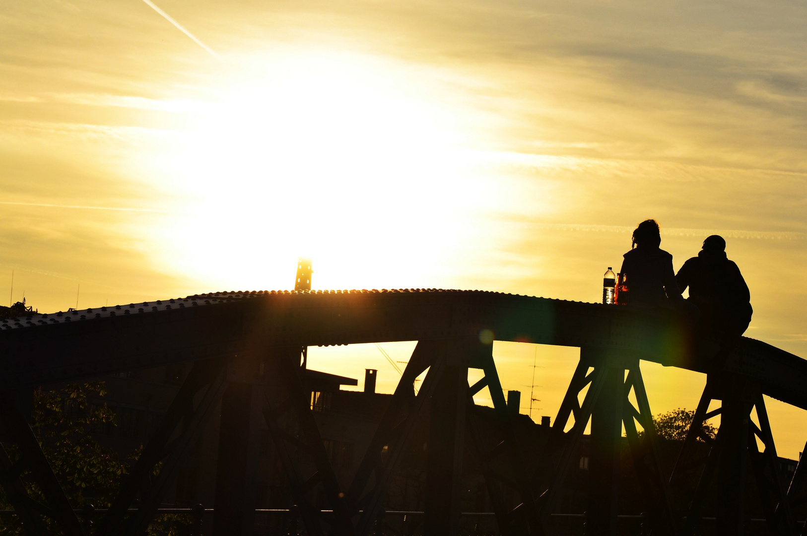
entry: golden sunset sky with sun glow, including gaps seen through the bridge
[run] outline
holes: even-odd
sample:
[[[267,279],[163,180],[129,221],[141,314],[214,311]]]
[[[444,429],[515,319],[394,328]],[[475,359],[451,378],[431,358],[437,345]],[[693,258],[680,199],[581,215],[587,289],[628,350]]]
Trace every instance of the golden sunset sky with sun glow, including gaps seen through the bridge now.
[[[722,234],[746,334],[807,357],[804,0],[155,1],[3,2],[0,303],[12,270],[51,312],[291,288],[298,256],[320,289],[598,301],[655,218],[676,269]],[[578,350],[494,350],[554,419]],[[705,377],[643,371],[695,408]],[[796,457],[807,415],[769,404]]]

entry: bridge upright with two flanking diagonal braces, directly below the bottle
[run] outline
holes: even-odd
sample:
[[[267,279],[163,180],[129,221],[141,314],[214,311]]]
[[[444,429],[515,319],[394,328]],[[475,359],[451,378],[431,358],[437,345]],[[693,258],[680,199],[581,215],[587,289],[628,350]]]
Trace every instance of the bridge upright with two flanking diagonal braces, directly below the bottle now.
[[[586,388],[581,404],[579,396]],[[631,392],[636,406],[630,400]],[[574,417],[574,425],[564,433],[570,417]],[[651,516],[654,534],[673,534],[675,516],[667,480],[659,463],[655,428],[639,360],[625,357],[616,350],[580,350],[580,362],[547,442],[550,467],[543,474],[548,482],[546,491],[541,495],[544,519],[557,502],[589,419],[592,422],[592,453],[587,532],[603,536],[617,534],[621,431],[622,425],[625,425],[633,466],[646,500],[646,511]],[[641,438],[636,428],[637,422],[644,430]]]

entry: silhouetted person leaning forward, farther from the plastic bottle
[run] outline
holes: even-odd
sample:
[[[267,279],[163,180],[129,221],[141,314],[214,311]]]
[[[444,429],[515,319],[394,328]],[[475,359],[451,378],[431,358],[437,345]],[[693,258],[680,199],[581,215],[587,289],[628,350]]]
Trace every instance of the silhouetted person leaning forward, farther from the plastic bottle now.
[[[684,262],[675,275],[689,301],[701,312],[702,329],[728,338],[739,337],[751,322],[751,292],[737,265],[725,256],[725,240],[712,235],[697,257]]]

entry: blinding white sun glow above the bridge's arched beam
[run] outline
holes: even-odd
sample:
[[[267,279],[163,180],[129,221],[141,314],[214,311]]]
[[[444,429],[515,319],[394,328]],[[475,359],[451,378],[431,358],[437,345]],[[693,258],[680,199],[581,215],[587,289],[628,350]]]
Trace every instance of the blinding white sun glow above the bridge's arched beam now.
[[[216,90],[174,161],[194,215],[165,236],[180,273],[288,287],[307,255],[319,288],[421,286],[468,235],[463,215],[495,206],[467,165],[473,114],[445,81],[357,55],[261,69]]]

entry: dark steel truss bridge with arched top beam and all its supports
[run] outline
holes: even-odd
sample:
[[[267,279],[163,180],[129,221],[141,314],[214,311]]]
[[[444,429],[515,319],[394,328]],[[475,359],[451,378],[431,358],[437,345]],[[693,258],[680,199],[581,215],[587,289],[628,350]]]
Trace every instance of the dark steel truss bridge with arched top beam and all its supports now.
[[[506,406],[492,344],[480,341],[483,330],[490,330],[497,341],[581,349],[537,471],[522,469],[523,448]],[[341,488],[312,415],[310,393],[303,386],[301,350],[384,341],[418,342],[352,484]],[[642,359],[708,375],[671,475],[664,474],[659,463],[639,369]],[[549,534],[546,521],[589,421],[589,474],[596,493],[589,494],[587,534],[617,534],[623,424],[652,534],[692,534],[707,494],[719,498],[717,534],[742,534],[746,478],[752,477],[769,532],[801,534],[801,524],[792,516],[792,501],[807,468],[799,464],[788,490],[763,395],[807,408],[805,360],[745,337],[730,354],[722,355],[716,346],[697,341],[672,312],[438,289],[220,292],[2,320],[0,425],[23,457],[11,463],[0,448],[0,484],[29,534],[50,534],[44,516],[68,536],[82,536],[85,531],[13,392],[179,362],[194,366],[93,534],[144,534],[179,460],[219,404],[222,423],[228,423],[221,433],[232,441],[220,442],[213,531],[216,536],[252,534],[242,506],[246,453],[245,442],[239,440],[249,425],[242,415],[250,400],[261,400],[295,504],[312,535],[370,532],[396,463],[427,411],[424,408],[433,423],[424,507],[424,534],[429,536],[458,533],[458,487],[466,442],[483,469],[500,533]],[[483,379],[469,385],[469,368],[483,371]],[[414,380],[427,370],[415,393]],[[484,387],[491,393],[500,429],[492,446],[466,420],[471,396]],[[721,401],[720,408],[709,411],[713,400]],[[752,409],[759,425],[750,418]],[[718,413],[721,426],[712,439],[703,424]],[[571,420],[574,425],[564,433]],[[289,422],[296,423],[293,433],[287,429]],[[695,459],[698,438],[709,443],[705,460]],[[293,461],[295,449],[310,457],[314,474],[300,474]],[[162,469],[151,478],[158,463],[163,463]],[[23,471],[30,471],[46,505],[28,496],[19,477]],[[671,490],[688,471],[700,475],[699,484],[688,492],[684,504],[674,504]],[[332,511],[320,511],[312,503],[311,490],[318,484],[324,487]],[[515,509],[503,500],[504,488],[518,497]]]

